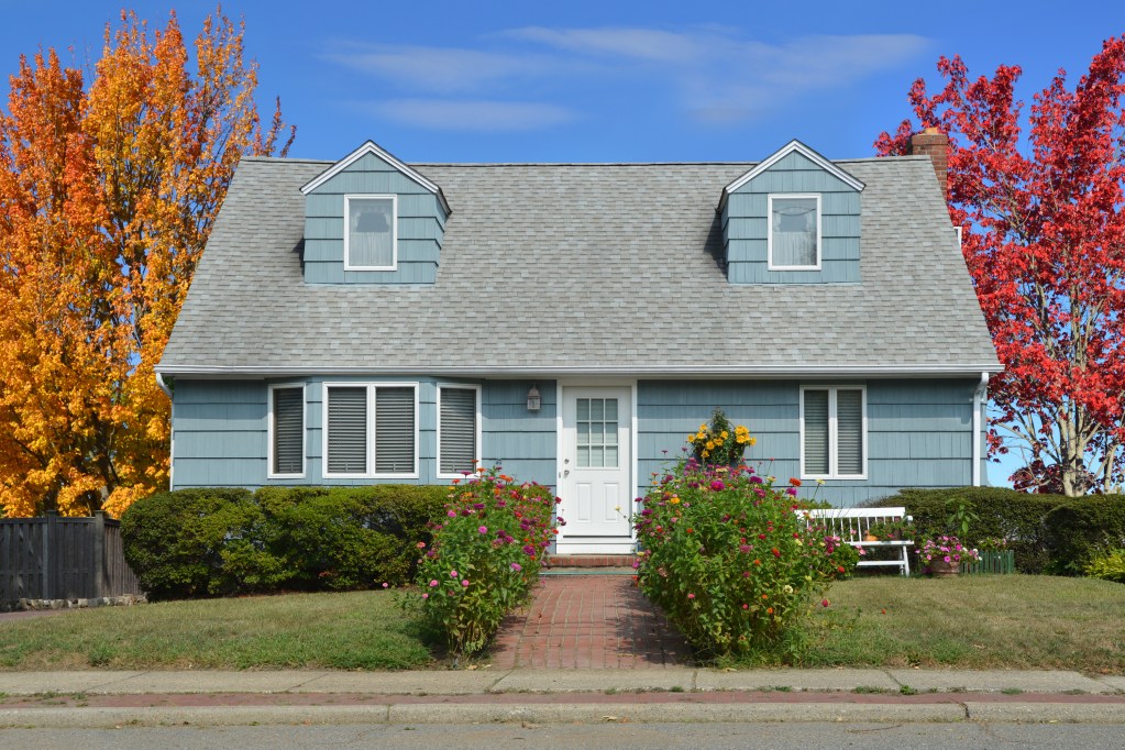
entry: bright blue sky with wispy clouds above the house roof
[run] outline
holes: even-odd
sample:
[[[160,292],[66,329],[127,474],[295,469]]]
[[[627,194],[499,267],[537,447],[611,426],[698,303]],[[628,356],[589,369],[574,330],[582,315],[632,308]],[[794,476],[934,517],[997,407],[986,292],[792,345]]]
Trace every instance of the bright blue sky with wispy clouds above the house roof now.
[[[194,37],[207,2],[137,2]],[[867,156],[933,84],[938,55],[973,75],[1019,64],[1020,96],[1084,71],[1125,10],[1026,2],[282,2],[231,1],[280,96],[292,156],[339,159],[372,138],[405,161],[753,161],[791,138],[830,159]],[[120,6],[0,0],[0,72],[55,47],[97,58]],[[1062,9],[1061,9],[1062,8]],[[3,83],[7,93],[7,81]],[[1010,469],[991,468],[993,482]]]

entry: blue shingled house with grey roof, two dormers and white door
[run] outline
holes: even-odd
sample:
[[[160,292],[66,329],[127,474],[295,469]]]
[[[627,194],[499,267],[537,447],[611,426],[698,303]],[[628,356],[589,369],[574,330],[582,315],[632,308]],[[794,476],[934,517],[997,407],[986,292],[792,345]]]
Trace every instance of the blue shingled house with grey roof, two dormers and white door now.
[[[762,473],[837,505],[980,484],[1000,365],[945,145],[916,143],[937,157],[246,157],[158,367],[172,486],[500,462],[557,488],[559,551],[624,551],[632,498],[714,407]]]

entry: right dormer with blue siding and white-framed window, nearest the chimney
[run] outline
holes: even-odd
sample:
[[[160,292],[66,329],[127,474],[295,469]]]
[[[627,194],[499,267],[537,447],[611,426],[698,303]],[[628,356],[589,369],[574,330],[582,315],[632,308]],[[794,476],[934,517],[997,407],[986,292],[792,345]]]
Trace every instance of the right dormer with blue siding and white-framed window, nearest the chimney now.
[[[799,141],[722,190],[731,283],[857,283],[864,184]]]

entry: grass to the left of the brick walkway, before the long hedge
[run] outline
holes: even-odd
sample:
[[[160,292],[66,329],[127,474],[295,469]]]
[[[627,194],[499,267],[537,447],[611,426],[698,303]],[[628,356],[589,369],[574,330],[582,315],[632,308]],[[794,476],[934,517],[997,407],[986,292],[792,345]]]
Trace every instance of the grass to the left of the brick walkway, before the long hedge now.
[[[80,609],[0,625],[0,669],[408,669],[421,624],[385,591]]]

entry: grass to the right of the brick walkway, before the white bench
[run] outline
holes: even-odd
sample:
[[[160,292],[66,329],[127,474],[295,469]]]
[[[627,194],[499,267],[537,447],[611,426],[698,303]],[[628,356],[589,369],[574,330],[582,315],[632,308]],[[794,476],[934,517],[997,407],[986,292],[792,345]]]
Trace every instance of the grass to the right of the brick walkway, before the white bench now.
[[[1125,586],[1087,578],[866,577],[834,584],[836,616],[804,666],[1125,674]],[[885,613],[885,614],[884,614]]]

